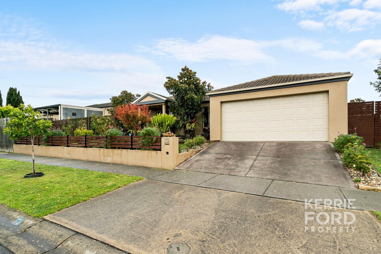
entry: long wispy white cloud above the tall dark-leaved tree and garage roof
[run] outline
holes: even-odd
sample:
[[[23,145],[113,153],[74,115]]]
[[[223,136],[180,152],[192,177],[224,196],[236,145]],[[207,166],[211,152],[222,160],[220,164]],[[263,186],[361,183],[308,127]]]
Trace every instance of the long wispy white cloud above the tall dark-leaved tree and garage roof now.
[[[219,35],[205,36],[197,42],[174,38],[159,40],[152,52],[170,56],[179,61],[191,62],[208,60],[266,62],[272,60],[263,52],[262,44],[259,42]]]

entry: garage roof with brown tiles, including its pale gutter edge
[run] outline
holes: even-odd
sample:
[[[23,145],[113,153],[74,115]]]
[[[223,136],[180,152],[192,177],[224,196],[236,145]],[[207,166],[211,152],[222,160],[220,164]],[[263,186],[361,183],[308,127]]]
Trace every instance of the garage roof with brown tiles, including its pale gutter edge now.
[[[241,83],[234,86],[227,86],[211,91],[208,95],[215,93],[228,93],[233,91],[251,90],[267,86],[280,86],[295,83],[306,83],[314,80],[335,79],[335,78],[351,78],[353,74],[350,72],[329,72],[329,73],[313,73],[313,74],[293,74],[293,75],[273,75],[266,78]],[[348,79],[349,79],[348,78]]]

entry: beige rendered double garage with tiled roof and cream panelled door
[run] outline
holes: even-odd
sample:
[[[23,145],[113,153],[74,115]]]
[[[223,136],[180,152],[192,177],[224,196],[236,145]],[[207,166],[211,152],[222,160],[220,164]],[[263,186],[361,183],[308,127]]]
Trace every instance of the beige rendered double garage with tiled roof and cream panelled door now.
[[[333,142],[348,131],[352,75],[275,75],[211,91],[210,139]]]

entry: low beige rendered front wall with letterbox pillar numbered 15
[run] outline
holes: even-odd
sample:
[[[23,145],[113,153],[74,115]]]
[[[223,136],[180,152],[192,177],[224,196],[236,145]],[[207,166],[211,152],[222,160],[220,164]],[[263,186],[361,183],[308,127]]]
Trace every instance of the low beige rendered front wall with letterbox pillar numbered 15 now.
[[[30,145],[13,145],[13,149],[15,153],[32,153]],[[154,168],[173,169],[179,165],[178,137],[162,137],[161,149],[161,151],[145,151],[35,145],[34,154],[39,156],[120,163]]]

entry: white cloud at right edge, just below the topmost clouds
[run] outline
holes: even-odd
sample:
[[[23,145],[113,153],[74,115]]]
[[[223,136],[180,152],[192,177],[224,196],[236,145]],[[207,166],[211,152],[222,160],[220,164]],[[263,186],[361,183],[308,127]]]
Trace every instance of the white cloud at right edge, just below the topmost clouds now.
[[[327,26],[334,26],[339,30],[353,32],[367,27],[374,27],[380,23],[381,13],[359,9],[328,11],[324,22]]]

